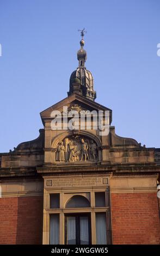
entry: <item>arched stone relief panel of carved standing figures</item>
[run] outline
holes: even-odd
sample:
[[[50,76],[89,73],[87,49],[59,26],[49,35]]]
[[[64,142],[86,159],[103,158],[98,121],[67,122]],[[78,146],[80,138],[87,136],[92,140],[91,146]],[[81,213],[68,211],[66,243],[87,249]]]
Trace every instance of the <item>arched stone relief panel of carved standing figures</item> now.
[[[93,139],[72,136],[63,139],[57,145],[56,161],[98,161],[97,144]]]

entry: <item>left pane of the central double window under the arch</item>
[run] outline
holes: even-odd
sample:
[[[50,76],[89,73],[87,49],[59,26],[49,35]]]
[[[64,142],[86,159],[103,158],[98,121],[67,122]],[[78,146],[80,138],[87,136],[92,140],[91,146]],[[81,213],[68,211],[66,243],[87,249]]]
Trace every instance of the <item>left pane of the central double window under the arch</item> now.
[[[67,217],[67,245],[76,245],[76,217]]]

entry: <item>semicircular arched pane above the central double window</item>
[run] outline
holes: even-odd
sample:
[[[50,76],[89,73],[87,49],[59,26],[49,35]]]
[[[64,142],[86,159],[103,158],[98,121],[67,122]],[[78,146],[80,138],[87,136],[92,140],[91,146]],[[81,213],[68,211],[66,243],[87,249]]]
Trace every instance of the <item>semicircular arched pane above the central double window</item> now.
[[[66,208],[76,208],[76,207],[90,207],[90,203],[87,200],[87,198],[83,196],[78,196],[78,195],[73,196],[71,197],[69,202],[67,202]]]

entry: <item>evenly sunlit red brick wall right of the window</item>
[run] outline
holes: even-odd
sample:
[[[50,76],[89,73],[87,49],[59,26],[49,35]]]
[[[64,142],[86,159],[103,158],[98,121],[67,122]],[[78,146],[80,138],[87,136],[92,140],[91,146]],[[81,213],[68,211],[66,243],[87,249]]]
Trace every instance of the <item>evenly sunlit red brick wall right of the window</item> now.
[[[160,244],[156,193],[114,193],[113,244]]]

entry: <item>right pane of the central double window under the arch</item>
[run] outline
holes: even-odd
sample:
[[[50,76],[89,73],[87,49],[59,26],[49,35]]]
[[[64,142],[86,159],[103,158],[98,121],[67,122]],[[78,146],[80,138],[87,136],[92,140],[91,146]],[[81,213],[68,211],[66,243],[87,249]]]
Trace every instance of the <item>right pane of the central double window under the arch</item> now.
[[[88,216],[81,216],[80,219],[80,245],[89,245]]]

